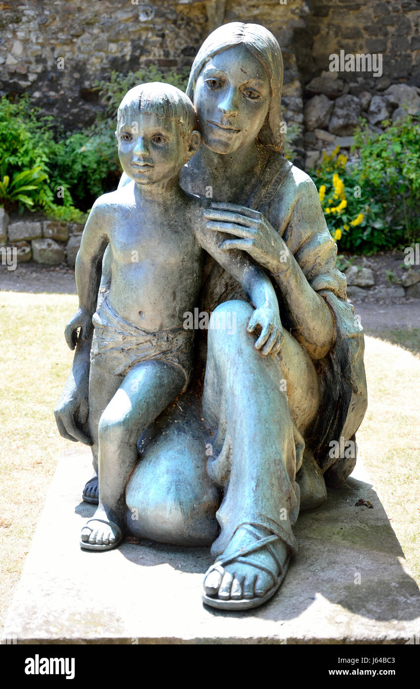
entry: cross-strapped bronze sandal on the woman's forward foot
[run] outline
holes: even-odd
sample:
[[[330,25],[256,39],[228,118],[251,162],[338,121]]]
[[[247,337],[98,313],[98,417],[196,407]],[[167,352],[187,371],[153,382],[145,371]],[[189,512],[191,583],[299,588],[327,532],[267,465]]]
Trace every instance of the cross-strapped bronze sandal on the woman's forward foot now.
[[[269,574],[270,577],[272,577],[273,579],[273,586],[272,588],[269,588],[267,593],[265,593],[265,595],[263,596],[239,599],[228,598],[226,600],[218,598],[217,595],[208,595],[206,591],[203,590],[203,593],[201,594],[201,599],[203,600],[203,603],[205,603],[208,606],[211,606],[212,608],[219,608],[223,610],[247,610],[249,608],[257,608],[258,606],[263,605],[263,603],[269,600],[274,595],[274,593],[276,593],[276,590],[279,588],[280,584],[283,582],[283,579],[285,578],[287,567],[289,566],[290,556],[287,557],[285,564],[283,564],[282,566],[282,564],[278,561],[277,554],[271,546],[272,543],[282,540],[280,536],[273,534],[272,536],[260,538],[258,532],[252,528],[251,524],[241,524],[241,526],[243,526],[243,528],[246,528],[248,533],[252,533],[254,536],[256,536],[258,538],[258,541],[254,545],[249,546],[248,548],[240,548],[239,551],[236,551],[236,553],[229,555],[229,557],[224,557],[223,559],[219,559],[216,562],[214,562],[214,564],[212,564],[212,566],[207,570],[206,576],[204,578],[206,579],[207,575],[210,574],[210,572],[212,572],[213,570],[217,570],[219,574],[223,575],[224,570],[221,570],[220,568],[223,568],[225,565],[235,560],[236,562],[250,564],[253,567]],[[258,562],[254,562],[249,557],[246,557],[246,555],[250,555],[250,553],[254,553],[255,551],[260,550],[261,548],[267,548],[270,555],[272,555],[272,557],[276,561],[279,569],[278,575],[274,575],[269,569],[267,569],[263,565],[259,564]]]

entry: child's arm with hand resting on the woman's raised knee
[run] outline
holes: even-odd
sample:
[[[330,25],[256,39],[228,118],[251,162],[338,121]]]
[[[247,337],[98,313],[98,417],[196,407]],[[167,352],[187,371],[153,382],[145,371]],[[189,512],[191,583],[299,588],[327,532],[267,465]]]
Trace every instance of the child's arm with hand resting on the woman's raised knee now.
[[[202,225],[202,221],[199,224]],[[258,325],[261,326],[261,335],[255,343],[256,349],[261,349],[265,345],[262,349],[264,355],[278,353],[282,344],[282,325],[276,292],[265,272],[252,263],[244,251],[220,249],[221,243],[228,239],[228,235],[199,227],[196,237],[199,245],[238,280],[247,298],[254,305],[256,310],[250,318],[247,331],[252,333]]]

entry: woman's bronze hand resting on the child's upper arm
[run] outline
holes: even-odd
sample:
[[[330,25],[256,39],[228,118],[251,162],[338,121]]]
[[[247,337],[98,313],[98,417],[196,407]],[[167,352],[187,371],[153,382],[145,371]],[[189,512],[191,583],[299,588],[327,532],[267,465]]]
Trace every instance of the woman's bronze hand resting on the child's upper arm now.
[[[258,211],[234,203],[212,203],[204,211],[207,229],[236,236],[219,245],[223,251],[247,251],[257,263],[278,275],[287,269],[288,249],[278,232]]]

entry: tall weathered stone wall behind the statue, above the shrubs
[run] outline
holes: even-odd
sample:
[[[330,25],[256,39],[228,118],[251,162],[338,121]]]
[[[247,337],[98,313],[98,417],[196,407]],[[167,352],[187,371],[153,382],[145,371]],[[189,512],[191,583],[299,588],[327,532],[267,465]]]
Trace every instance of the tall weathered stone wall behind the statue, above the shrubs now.
[[[343,138],[359,114],[377,127],[407,99],[416,112],[419,0],[0,1],[0,89],[30,92],[74,130],[95,119],[96,80],[149,64],[190,67],[208,33],[235,20],[265,25],[280,43],[283,120],[304,127],[299,165],[311,167],[317,152],[337,143],[349,147]],[[330,72],[329,56],[340,50],[383,54],[382,76]],[[401,83],[411,90],[397,99],[389,87]]]

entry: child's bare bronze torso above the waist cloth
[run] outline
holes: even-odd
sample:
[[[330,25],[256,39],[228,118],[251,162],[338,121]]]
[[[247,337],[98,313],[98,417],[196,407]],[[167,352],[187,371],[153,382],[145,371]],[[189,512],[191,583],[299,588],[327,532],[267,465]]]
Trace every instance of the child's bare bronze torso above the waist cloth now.
[[[199,203],[135,198],[133,185],[107,194],[111,267],[109,305],[124,320],[156,332],[181,327],[201,285],[202,249],[195,238]]]

